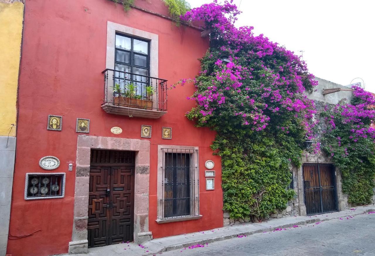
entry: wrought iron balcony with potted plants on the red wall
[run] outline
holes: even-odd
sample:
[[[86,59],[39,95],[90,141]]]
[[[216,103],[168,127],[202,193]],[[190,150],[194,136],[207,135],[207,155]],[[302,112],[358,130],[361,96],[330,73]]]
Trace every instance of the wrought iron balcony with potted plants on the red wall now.
[[[160,118],[167,110],[167,80],[107,68],[102,109],[116,115]]]

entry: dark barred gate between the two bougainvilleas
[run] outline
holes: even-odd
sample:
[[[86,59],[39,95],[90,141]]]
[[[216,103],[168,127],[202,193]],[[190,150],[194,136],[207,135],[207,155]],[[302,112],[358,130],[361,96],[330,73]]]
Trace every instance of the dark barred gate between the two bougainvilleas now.
[[[333,164],[303,164],[307,215],[338,211]]]

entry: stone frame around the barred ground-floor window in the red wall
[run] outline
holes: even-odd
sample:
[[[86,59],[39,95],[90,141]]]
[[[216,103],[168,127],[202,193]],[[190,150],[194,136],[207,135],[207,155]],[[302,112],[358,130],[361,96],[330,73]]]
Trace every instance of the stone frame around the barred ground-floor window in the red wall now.
[[[195,202],[190,202],[190,216],[186,217],[164,217],[163,216],[163,193],[164,187],[162,186],[163,180],[163,149],[173,149],[173,150],[196,150],[196,154],[193,153],[193,159],[190,158],[190,168],[192,167],[194,172],[194,177],[197,177],[193,192],[191,192],[192,200]],[[194,163],[194,165],[192,164]],[[192,176],[190,176],[192,177]],[[192,191],[190,189],[190,191]],[[195,208],[194,208],[195,207]],[[193,214],[193,215],[192,215]],[[195,220],[200,219],[202,215],[199,213],[199,147],[195,146],[177,146],[177,145],[157,145],[157,219],[156,222],[159,224],[169,223],[169,222],[179,222],[185,220]]]

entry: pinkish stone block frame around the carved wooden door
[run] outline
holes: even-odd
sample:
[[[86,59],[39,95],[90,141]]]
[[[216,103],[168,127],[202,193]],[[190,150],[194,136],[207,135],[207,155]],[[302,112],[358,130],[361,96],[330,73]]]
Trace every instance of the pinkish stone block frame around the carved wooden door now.
[[[152,239],[148,231],[148,189],[150,183],[150,141],[78,135],[76,178],[74,192],[74,220],[69,253],[87,253],[87,220],[89,211],[91,149],[135,151],[134,182],[134,241],[144,243]]]

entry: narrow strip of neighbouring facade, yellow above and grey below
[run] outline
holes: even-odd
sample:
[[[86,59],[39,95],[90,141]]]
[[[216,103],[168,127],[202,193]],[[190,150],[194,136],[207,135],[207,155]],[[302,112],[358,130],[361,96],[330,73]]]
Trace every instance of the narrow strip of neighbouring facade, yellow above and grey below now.
[[[0,0],[0,255],[5,255],[17,131],[17,88],[24,4]]]

